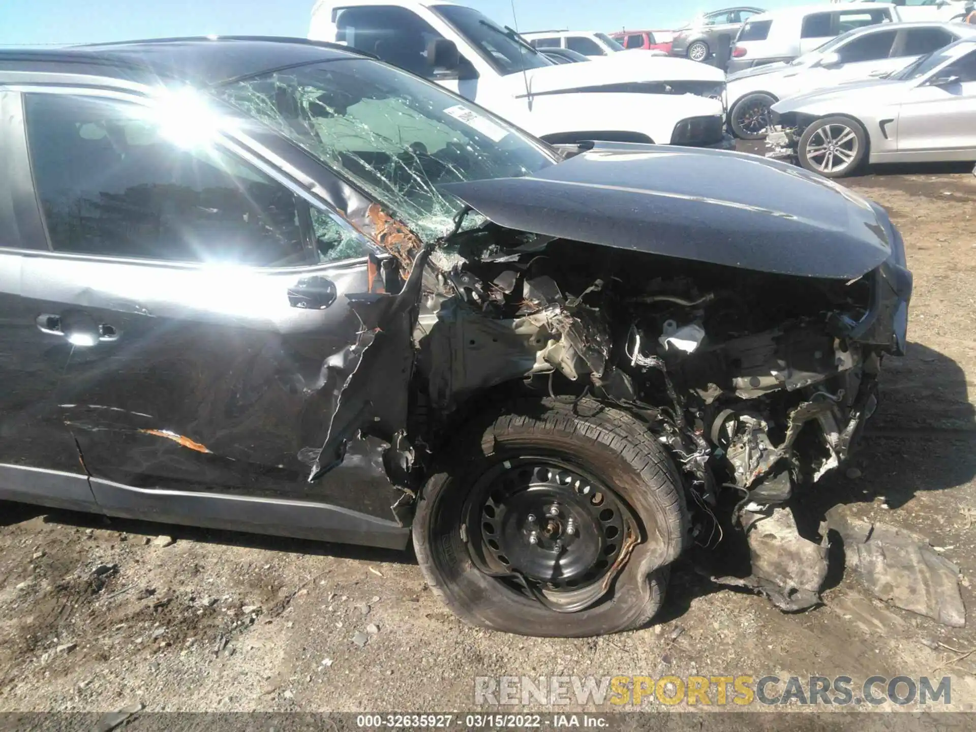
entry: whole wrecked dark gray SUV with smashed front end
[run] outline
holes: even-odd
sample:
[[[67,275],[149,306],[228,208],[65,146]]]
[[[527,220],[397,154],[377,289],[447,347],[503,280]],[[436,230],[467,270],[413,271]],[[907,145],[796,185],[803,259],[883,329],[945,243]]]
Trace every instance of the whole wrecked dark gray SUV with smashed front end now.
[[[817,601],[793,496],[905,346],[873,203],[748,155],[555,149],[303,41],[0,52],[0,112],[0,498],[412,538],[458,615],[518,633],[647,623],[723,525],[738,582]]]

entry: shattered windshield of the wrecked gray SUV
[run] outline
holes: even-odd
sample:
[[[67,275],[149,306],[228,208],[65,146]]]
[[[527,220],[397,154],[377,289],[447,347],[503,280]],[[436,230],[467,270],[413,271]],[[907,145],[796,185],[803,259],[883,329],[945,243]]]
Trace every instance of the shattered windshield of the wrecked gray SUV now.
[[[425,239],[448,233],[464,207],[438,185],[517,178],[555,162],[490,112],[377,61],[273,71],[219,94],[337,169]]]

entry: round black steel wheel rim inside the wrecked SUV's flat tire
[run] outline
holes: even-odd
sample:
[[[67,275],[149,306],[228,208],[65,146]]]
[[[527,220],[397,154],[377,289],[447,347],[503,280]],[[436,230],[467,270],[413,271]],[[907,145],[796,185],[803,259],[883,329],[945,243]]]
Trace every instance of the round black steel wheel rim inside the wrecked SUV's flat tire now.
[[[620,552],[626,509],[575,470],[508,466],[491,477],[480,507],[486,553],[547,590],[596,583]]]

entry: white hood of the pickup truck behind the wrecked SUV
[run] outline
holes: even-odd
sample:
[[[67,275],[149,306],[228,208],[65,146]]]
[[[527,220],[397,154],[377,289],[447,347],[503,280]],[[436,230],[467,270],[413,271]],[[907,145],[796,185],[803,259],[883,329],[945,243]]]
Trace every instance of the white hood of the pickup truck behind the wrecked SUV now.
[[[619,56],[622,54],[615,55]],[[639,81],[714,81],[721,84],[725,80],[724,73],[706,63],[649,54],[627,56],[630,58],[542,66],[526,71],[525,78],[518,73],[508,74],[503,80],[513,96],[524,95],[526,83],[533,94],[545,94]]]

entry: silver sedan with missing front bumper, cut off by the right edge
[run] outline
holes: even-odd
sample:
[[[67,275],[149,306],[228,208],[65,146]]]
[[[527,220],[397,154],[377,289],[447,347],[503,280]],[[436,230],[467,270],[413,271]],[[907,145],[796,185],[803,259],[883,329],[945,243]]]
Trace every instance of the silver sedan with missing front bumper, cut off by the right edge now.
[[[886,78],[842,84],[772,106],[770,157],[828,178],[862,164],[976,160],[976,40]]]

